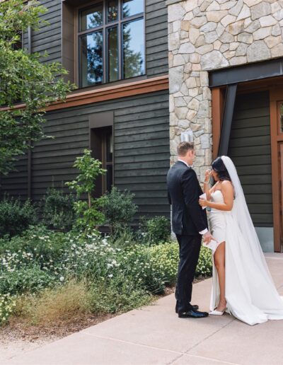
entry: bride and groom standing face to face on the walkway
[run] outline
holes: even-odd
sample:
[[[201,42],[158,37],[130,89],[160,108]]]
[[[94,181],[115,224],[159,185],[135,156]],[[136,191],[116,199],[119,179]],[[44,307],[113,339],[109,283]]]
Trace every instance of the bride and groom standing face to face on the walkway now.
[[[180,248],[176,313],[179,318],[204,318],[226,312],[248,325],[283,320],[283,300],[265,262],[231,158],[221,156],[212,163],[205,174],[204,194],[191,167],[194,159],[193,144],[181,142],[178,161],[167,175],[172,229]],[[209,187],[211,176],[215,184]],[[202,236],[213,254],[209,313],[190,303]]]

